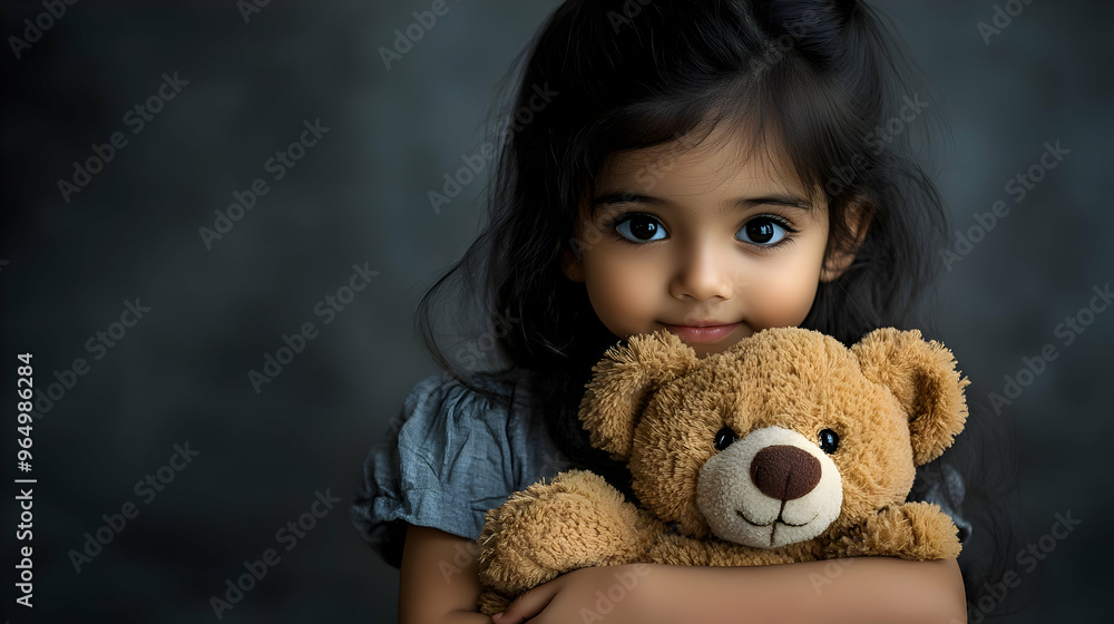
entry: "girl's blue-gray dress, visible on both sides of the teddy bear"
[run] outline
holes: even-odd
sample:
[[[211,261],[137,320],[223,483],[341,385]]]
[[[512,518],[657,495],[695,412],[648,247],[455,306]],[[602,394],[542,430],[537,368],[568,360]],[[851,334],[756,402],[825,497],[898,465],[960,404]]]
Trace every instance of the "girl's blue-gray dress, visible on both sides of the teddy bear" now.
[[[352,496],[352,523],[391,566],[401,566],[408,524],[475,540],[488,509],[571,467],[540,419],[531,418],[522,378],[482,383],[511,397],[510,408],[448,373],[434,374],[413,388],[368,455]],[[940,505],[960,540],[970,535],[959,515],[962,496],[962,479],[950,466],[936,461],[918,469],[911,499]]]

